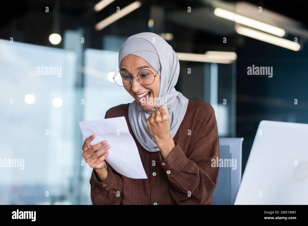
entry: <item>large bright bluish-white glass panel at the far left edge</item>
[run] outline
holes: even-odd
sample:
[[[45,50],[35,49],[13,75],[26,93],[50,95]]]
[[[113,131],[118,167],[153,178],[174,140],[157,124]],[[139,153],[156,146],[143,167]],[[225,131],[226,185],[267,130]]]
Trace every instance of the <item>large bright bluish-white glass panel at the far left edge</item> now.
[[[74,173],[76,55],[5,40],[0,49],[0,203],[63,200]]]

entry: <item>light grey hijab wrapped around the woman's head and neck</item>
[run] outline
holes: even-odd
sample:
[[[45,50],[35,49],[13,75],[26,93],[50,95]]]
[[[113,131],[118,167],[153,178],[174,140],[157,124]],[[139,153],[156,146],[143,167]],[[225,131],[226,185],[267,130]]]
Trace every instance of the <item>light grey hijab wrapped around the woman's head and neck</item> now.
[[[128,54],[136,55],[147,61],[156,71],[160,69],[160,89],[158,100],[164,100],[163,105],[170,115],[170,134],[173,138],[186,113],[188,99],[176,91],[174,86],[180,73],[180,63],[172,47],[159,35],[143,32],[126,39],[119,52],[119,68],[121,60]],[[156,109],[156,106],[144,111],[139,104],[133,101],[128,108],[128,118],[136,139],[149,152],[158,152],[155,139],[148,131],[147,119]]]

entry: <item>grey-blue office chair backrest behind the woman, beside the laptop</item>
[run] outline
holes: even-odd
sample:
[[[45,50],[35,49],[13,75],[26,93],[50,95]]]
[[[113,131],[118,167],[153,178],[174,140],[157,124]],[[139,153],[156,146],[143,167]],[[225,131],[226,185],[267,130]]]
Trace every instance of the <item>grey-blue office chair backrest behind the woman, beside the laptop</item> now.
[[[244,138],[219,138],[219,162],[222,165],[213,193],[213,205],[234,204],[241,183],[243,140]]]

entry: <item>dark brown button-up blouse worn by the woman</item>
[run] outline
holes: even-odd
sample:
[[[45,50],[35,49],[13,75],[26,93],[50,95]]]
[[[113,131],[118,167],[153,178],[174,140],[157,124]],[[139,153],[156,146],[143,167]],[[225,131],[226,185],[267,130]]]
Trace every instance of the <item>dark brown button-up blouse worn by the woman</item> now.
[[[219,167],[217,122],[211,105],[189,101],[184,119],[173,137],[175,148],[167,159],[148,152],[136,140],[128,120],[128,104],[112,107],[105,118],[125,116],[148,179],[132,179],[116,172],[106,161],[108,178],[100,183],[92,171],[91,200],[102,204],[212,204]]]

